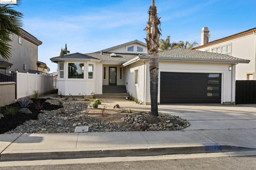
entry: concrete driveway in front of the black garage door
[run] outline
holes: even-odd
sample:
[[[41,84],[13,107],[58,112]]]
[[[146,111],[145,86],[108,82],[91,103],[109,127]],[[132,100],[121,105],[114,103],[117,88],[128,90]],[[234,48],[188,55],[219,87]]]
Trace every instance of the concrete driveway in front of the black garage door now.
[[[186,130],[256,129],[256,105],[160,105],[162,113],[186,118]]]

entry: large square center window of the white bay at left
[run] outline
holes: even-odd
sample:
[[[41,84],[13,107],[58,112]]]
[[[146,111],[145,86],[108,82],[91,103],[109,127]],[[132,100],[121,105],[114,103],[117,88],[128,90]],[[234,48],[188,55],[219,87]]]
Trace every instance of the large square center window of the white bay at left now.
[[[84,63],[68,63],[68,78],[83,79],[84,78]]]

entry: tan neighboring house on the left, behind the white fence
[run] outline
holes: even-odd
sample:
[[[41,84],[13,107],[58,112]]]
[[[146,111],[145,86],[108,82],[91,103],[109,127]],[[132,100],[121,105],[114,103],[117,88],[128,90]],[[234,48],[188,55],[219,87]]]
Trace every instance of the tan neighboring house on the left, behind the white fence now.
[[[11,45],[11,58],[5,61],[9,66],[0,62],[0,71],[4,72],[22,72],[22,73],[45,73],[47,66],[45,63],[38,61],[38,46],[42,44],[36,37],[21,29],[20,36],[14,33],[10,34],[12,39]],[[1,61],[2,57],[0,56]]]

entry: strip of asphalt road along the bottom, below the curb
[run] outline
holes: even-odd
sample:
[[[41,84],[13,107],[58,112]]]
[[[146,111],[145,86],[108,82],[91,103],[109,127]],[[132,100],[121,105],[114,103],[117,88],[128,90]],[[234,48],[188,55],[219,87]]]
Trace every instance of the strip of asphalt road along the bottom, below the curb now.
[[[0,167],[0,169],[256,169],[256,156],[249,157],[213,157],[213,158],[193,158],[193,159],[174,159],[174,160],[145,160],[137,162],[111,162],[93,164],[66,164],[66,165],[43,165],[43,166],[21,166],[21,167]]]

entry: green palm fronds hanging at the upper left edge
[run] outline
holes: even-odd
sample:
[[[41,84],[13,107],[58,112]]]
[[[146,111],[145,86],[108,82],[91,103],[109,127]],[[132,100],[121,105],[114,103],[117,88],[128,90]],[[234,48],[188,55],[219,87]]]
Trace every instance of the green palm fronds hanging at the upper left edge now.
[[[12,39],[10,34],[20,35],[23,15],[13,9],[14,6],[19,4],[20,0],[17,1],[17,4],[0,4],[0,55],[4,60],[11,58],[11,46],[9,43]]]

